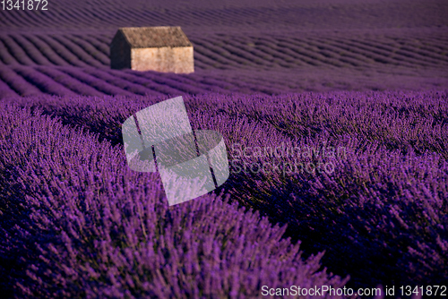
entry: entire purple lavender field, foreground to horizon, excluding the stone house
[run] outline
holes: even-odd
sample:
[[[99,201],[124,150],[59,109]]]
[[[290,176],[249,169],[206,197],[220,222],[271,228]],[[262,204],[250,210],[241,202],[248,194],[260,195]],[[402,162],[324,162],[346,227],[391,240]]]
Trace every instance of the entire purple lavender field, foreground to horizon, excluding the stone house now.
[[[0,11],[2,295],[448,286],[447,14],[403,0]],[[159,25],[185,31],[194,73],[110,69],[118,27]],[[230,176],[169,207],[157,173],[126,166],[121,124],[176,96],[194,130],[223,135]]]

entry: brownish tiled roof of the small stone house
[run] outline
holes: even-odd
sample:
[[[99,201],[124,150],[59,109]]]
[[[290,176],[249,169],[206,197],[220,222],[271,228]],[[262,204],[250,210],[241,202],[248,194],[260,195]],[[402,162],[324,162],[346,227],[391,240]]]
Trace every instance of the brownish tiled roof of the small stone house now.
[[[124,27],[118,29],[131,47],[192,47],[180,27]]]

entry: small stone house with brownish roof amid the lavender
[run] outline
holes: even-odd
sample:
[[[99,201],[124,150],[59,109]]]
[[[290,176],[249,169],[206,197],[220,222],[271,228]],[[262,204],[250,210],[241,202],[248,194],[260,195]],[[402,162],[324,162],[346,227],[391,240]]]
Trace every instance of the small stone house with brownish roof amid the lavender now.
[[[110,44],[110,67],[193,73],[193,45],[180,27],[125,27]]]

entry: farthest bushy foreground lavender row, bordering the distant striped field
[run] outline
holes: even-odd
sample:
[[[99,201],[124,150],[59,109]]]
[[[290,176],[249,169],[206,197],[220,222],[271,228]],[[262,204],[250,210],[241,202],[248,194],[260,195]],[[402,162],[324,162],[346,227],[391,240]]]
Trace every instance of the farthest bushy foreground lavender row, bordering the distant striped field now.
[[[358,140],[377,141],[386,149],[402,153],[412,149],[419,155],[430,151],[448,158],[446,90],[304,93],[273,97],[207,94],[184,98],[192,111],[220,111],[234,119],[244,116],[248,122],[272,126],[293,140],[313,138],[318,133],[336,137],[349,135],[357,136]],[[51,109],[55,112],[63,109],[62,114],[56,113],[67,120],[88,115],[83,122],[101,127],[111,120],[124,121],[131,110],[136,112],[155,100],[151,97],[136,99],[75,97],[54,100],[43,97],[22,102],[47,106],[50,113]],[[84,111],[86,107],[88,111]],[[91,109],[101,113],[90,115]],[[116,118],[117,112],[125,118]],[[221,126],[226,130],[225,124]]]

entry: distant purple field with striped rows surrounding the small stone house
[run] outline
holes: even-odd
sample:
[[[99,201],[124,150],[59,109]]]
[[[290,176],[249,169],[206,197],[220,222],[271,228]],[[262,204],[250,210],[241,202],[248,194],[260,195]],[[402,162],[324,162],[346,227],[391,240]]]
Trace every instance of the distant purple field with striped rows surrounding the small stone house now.
[[[47,11],[0,12],[0,97],[448,86],[443,2],[168,3],[57,2]],[[116,29],[151,25],[182,26],[195,73],[109,69]]]

